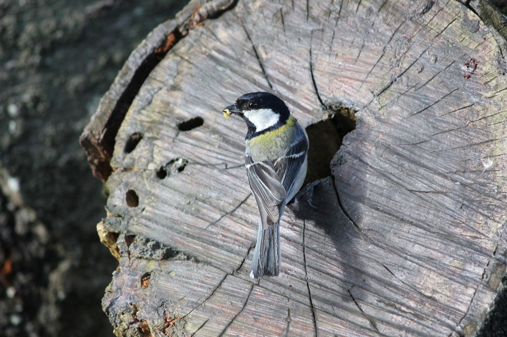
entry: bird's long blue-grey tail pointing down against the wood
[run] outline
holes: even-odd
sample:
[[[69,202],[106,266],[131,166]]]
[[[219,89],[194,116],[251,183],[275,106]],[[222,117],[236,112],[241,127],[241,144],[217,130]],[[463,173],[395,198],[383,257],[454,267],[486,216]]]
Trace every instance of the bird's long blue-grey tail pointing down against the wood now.
[[[257,244],[250,265],[250,277],[278,275],[281,259],[279,224],[277,222],[263,229],[262,223],[259,222]]]

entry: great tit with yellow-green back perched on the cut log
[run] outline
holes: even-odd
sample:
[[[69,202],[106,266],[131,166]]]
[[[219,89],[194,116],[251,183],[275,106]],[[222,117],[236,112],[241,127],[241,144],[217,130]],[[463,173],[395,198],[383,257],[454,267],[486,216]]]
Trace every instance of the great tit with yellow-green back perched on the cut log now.
[[[223,113],[226,118],[239,115],[248,129],[246,174],[260,214],[250,277],[275,276],[280,271],[280,218],[305,180],[308,136],[285,103],[270,93],[245,94]]]

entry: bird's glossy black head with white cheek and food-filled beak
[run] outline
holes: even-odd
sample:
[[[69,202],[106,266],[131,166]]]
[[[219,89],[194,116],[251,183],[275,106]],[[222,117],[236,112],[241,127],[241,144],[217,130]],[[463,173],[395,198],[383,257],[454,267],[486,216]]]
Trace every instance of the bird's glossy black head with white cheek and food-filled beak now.
[[[291,114],[285,103],[273,94],[265,92],[244,94],[224,113],[241,116],[248,127],[246,138],[276,130],[285,124]]]

